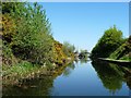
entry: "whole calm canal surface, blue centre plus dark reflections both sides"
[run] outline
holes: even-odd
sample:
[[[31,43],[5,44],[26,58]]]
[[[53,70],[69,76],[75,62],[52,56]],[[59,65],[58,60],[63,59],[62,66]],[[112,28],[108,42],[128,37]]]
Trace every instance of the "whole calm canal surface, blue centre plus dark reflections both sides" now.
[[[22,87],[3,88],[3,96],[129,96],[127,69],[99,61],[74,61],[56,76],[41,76]]]

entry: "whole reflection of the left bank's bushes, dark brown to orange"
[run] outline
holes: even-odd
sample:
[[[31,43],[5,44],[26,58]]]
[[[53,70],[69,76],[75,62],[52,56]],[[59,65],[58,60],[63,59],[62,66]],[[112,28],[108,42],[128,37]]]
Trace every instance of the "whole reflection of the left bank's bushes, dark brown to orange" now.
[[[40,75],[39,78],[24,79],[19,85],[8,85],[2,89],[3,96],[50,96],[53,90],[53,81],[57,76],[63,74],[68,76],[75,68],[74,63],[63,65],[56,70],[57,73],[51,76]]]

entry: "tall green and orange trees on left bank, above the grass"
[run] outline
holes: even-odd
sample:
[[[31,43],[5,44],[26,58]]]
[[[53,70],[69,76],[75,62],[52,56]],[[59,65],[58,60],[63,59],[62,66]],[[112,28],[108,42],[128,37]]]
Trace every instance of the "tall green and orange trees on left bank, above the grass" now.
[[[73,58],[75,47],[55,40],[46,10],[37,2],[3,2],[1,35],[5,65],[21,61],[62,64]]]

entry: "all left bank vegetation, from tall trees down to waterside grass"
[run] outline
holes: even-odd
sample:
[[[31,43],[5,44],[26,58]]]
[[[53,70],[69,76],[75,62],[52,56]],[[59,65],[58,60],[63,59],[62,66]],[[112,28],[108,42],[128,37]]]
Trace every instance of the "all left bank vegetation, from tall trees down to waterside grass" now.
[[[60,44],[38,3],[2,3],[2,83],[16,84],[49,73],[74,59],[74,46]]]

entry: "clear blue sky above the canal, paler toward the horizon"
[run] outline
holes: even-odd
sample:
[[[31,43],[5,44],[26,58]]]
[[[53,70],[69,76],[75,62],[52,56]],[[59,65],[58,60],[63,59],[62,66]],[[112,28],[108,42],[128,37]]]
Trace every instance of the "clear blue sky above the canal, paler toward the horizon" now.
[[[41,2],[51,23],[52,35],[60,42],[69,41],[76,49],[95,46],[114,24],[129,36],[128,2]]]

